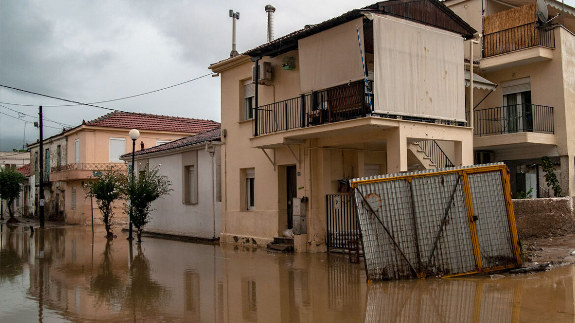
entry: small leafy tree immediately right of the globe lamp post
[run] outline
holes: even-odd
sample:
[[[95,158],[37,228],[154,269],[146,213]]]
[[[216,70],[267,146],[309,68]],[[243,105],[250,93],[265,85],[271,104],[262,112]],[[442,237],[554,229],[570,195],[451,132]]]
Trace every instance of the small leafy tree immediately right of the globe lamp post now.
[[[159,175],[159,170],[159,166],[152,169],[146,167],[146,170],[141,171],[138,176],[128,174],[122,184],[122,191],[126,195],[124,210],[129,213],[132,207],[131,220],[136,228],[138,242],[141,242],[144,225],[150,222],[151,203],[172,191],[170,180],[167,176]]]

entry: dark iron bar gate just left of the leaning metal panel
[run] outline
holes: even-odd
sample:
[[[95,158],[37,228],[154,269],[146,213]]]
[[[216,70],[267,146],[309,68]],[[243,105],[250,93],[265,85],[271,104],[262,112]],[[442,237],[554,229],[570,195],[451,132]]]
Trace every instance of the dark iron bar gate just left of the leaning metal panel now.
[[[325,195],[327,250],[347,249],[347,241],[359,241],[359,225],[351,194]]]

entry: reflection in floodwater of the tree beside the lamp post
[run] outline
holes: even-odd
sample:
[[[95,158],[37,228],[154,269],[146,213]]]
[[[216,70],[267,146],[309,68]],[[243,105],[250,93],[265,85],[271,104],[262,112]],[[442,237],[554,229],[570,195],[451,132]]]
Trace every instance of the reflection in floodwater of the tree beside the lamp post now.
[[[132,241],[130,241],[132,249]],[[130,251],[132,255],[132,251]],[[141,245],[137,245],[137,255],[130,263],[130,284],[127,286],[124,299],[125,309],[131,309],[134,321],[137,313],[143,317],[154,316],[170,298],[166,287],[158,284],[150,274],[150,260],[142,252]]]

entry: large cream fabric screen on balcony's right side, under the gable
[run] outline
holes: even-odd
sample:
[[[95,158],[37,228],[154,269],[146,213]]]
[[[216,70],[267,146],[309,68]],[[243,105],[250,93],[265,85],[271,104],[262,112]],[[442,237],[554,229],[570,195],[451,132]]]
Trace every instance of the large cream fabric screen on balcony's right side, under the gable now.
[[[463,39],[393,17],[374,17],[375,111],[465,121]]]

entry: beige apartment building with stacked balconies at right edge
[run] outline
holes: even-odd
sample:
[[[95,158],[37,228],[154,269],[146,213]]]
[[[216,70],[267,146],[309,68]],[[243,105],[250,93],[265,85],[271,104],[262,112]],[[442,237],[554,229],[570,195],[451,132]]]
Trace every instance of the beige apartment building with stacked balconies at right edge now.
[[[539,159],[550,156],[563,195],[573,196],[575,9],[545,1],[444,3],[483,34],[474,47],[473,68],[497,84],[492,92],[476,89],[473,95],[476,162],[504,161],[513,194],[532,190],[532,197],[549,197],[553,190]]]

